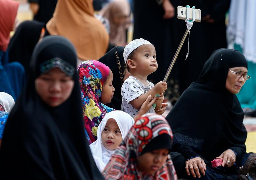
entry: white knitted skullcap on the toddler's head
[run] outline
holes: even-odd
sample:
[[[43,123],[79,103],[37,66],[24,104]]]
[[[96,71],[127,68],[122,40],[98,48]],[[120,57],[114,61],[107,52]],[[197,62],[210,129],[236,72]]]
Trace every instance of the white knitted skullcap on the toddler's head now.
[[[131,41],[129,44],[127,44],[124,47],[124,62],[125,63],[127,62],[128,56],[132,53],[132,51],[134,51],[134,49],[136,49],[137,47],[140,47],[143,44],[150,44],[150,45],[154,46],[149,41],[144,40],[143,38]]]

